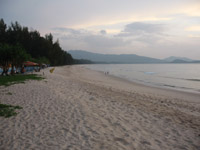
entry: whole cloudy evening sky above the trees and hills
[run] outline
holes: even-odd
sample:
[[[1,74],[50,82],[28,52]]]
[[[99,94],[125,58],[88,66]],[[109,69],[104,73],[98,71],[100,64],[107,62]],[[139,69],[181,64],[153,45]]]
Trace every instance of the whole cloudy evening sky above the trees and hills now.
[[[200,0],[0,0],[0,18],[66,51],[200,60]]]

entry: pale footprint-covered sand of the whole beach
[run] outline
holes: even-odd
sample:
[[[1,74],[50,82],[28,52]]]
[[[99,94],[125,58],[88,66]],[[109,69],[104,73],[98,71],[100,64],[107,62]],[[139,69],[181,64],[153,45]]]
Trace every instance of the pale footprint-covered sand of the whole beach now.
[[[199,150],[200,95],[130,83],[81,66],[0,87],[22,106],[0,117],[0,150]],[[9,95],[8,92],[12,93]]]

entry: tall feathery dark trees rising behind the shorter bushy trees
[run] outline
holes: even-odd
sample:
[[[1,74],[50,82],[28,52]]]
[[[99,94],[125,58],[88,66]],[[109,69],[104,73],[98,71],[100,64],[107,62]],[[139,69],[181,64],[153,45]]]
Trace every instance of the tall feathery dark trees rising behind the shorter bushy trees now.
[[[29,31],[18,22],[10,26],[0,20],[0,44],[20,45],[27,54],[41,63],[50,63],[52,66],[69,65],[73,63],[72,56],[62,50],[58,41],[53,42],[52,34],[40,36],[38,31]]]

